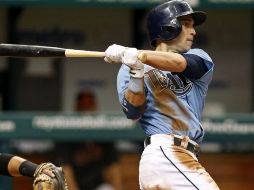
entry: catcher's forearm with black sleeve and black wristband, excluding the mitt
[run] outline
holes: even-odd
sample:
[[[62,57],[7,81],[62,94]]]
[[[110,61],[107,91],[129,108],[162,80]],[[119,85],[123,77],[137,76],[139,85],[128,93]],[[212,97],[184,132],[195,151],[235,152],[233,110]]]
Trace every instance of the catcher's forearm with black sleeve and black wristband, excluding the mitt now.
[[[2,175],[12,177],[33,177],[37,166],[37,164],[18,156],[11,154],[0,154],[0,174]]]

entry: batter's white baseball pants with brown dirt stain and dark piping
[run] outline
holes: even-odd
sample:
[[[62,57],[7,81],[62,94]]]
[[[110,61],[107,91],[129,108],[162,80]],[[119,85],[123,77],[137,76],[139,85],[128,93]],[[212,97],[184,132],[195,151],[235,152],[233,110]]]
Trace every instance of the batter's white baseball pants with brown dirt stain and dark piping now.
[[[141,190],[219,190],[197,157],[166,134],[153,135],[143,151],[139,184]]]

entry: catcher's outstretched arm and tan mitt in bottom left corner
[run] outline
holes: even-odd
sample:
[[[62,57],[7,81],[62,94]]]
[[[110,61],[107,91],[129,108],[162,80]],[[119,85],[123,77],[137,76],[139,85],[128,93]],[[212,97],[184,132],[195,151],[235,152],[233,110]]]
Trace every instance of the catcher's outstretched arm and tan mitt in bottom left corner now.
[[[34,190],[68,190],[63,171],[52,163],[35,164],[19,156],[0,153],[0,175],[34,178]]]

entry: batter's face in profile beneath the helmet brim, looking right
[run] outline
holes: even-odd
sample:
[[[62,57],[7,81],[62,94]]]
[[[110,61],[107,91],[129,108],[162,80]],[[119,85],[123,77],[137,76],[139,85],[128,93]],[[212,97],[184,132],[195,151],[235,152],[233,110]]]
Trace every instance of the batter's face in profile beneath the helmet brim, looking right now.
[[[183,16],[179,20],[182,24],[182,32],[172,42],[176,51],[186,52],[191,48],[194,36],[196,35],[194,20],[191,15]]]

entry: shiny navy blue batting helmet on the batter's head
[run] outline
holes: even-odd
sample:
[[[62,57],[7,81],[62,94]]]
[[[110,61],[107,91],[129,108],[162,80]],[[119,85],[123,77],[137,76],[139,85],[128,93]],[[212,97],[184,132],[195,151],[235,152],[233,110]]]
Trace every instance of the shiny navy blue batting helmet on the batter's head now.
[[[172,40],[182,31],[178,20],[181,16],[192,15],[194,25],[200,25],[206,20],[206,13],[193,11],[184,0],[167,1],[153,8],[147,15],[147,29],[150,44],[155,47],[156,40]]]

